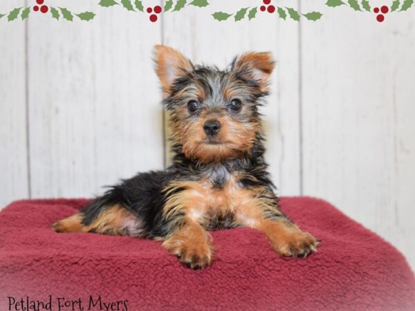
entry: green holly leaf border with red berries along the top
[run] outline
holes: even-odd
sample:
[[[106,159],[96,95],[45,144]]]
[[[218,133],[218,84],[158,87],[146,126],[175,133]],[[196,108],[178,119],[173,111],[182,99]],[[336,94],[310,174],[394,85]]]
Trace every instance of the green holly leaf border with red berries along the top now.
[[[42,3],[44,2],[41,0]],[[378,21],[383,21],[384,16],[387,12],[403,12],[409,10],[409,8],[414,8],[415,0],[394,0],[389,7],[382,6],[382,8],[371,7],[369,0],[326,0],[324,3],[325,6],[330,8],[338,8],[342,6],[347,6],[351,10],[360,11],[360,12],[373,12],[375,13],[376,19]],[[268,12],[270,14],[275,14],[279,19],[292,19],[293,21],[299,21],[301,18],[305,18],[308,21],[317,21],[322,18],[322,13],[317,11],[302,13],[296,10],[295,8],[283,7],[283,6],[274,6],[271,4],[271,0],[263,0],[264,5],[261,6],[252,6],[239,8],[234,12],[214,12],[212,14],[213,19],[216,21],[241,21],[243,19],[248,19],[249,21],[257,17],[258,12]],[[104,8],[113,8],[115,6],[120,6],[128,11],[133,12],[147,12],[149,13],[150,21],[157,21],[160,13],[172,13],[179,12],[188,6],[195,6],[198,8],[205,8],[210,6],[208,0],[166,0],[163,8],[160,6],[155,6],[154,8],[147,8],[142,3],[142,0],[99,0],[99,6]],[[28,7],[19,7],[10,10],[2,14],[0,12],[0,19],[7,19],[8,21],[15,21],[16,19],[21,19],[24,21],[28,19],[30,13],[37,12],[39,8],[37,6],[28,6]],[[91,21],[95,17],[94,12],[85,11],[75,13],[69,10],[68,8],[61,7],[48,7],[42,6],[42,13],[50,15],[53,19],[65,19],[66,21],[74,21],[74,19],[79,19],[81,21]],[[232,18],[231,18],[232,17]]]

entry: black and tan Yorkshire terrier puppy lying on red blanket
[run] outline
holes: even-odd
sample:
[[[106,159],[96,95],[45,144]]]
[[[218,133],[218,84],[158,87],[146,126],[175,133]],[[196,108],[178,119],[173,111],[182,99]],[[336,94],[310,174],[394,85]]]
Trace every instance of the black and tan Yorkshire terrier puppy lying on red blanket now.
[[[274,69],[270,53],[246,53],[219,70],[156,46],[155,62],[174,163],[123,180],[53,229],[156,238],[193,269],[212,263],[214,229],[257,229],[282,256],[315,252],[317,239],[279,210],[266,171],[258,108]]]

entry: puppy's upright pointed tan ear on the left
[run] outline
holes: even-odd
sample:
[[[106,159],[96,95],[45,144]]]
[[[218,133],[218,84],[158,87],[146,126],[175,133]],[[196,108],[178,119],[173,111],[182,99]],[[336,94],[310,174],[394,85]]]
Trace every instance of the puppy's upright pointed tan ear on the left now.
[[[165,96],[169,94],[174,80],[193,70],[192,63],[180,52],[174,50],[174,48],[169,48],[169,46],[155,46],[154,61],[156,62],[156,73]]]

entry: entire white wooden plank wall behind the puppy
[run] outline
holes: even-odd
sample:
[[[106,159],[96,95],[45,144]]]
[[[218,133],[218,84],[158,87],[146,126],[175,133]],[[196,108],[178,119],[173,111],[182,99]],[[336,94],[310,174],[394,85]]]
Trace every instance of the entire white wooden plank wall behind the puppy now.
[[[280,194],[329,200],[396,245],[415,267],[415,9],[378,23],[374,15],[309,0],[302,11],[322,10],[322,21],[259,12],[250,22],[220,23],[209,10],[257,3],[210,2],[210,9],[186,8],[157,23],[82,0],[66,5],[95,11],[93,21],[33,14],[8,23],[3,17],[0,205],[91,197],[119,178],[165,167],[154,44],[218,66],[246,50],[270,50],[277,69],[263,112]],[[24,3],[6,0],[1,7]]]

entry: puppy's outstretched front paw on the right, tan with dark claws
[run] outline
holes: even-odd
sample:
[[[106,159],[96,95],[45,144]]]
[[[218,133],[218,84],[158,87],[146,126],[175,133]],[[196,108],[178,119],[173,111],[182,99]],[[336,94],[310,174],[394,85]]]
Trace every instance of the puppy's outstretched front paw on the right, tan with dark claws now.
[[[317,252],[320,241],[307,232],[292,232],[286,234],[274,243],[274,249],[282,256],[305,258]]]

